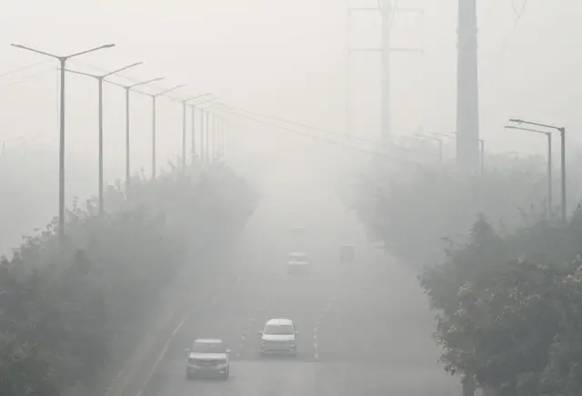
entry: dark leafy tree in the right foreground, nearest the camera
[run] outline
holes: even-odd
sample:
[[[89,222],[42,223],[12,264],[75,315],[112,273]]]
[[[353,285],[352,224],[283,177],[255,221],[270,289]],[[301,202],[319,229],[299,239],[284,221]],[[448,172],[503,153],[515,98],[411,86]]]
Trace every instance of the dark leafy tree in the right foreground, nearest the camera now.
[[[582,391],[582,210],[501,237],[479,219],[468,243],[421,276],[447,371],[498,396]]]

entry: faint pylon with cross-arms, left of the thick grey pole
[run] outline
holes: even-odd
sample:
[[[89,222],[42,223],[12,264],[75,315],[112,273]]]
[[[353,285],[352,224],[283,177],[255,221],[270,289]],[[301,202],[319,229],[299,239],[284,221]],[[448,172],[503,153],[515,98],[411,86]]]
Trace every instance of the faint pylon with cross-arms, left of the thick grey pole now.
[[[352,53],[354,52],[379,52],[382,55],[382,76],[381,76],[381,90],[382,90],[382,104],[381,104],[381,118],[382,118],[382,141],[387,143],[392,134],[392,116],[391,116],[391,79],[390,79],[390,60],[393,52],[407,52],[407,53],[421,53],[422,49],[418,48],[395,48],[391,45],[390,31],[394,21],[395,13],[408,12],[422,15],[423,10],[420,8],[406,8],[395,7],[393,0],[377,0],[376,7],[353,7],[350,0],[347,1],[347,15],[346,15],[346,134],[352,135],[352,117],[351,117],[351,95],[352,95]],[[354,12],[357,11],[373,11],[379,12],[382,15],[382,46],[380,48],[351,48],[351,19]]]

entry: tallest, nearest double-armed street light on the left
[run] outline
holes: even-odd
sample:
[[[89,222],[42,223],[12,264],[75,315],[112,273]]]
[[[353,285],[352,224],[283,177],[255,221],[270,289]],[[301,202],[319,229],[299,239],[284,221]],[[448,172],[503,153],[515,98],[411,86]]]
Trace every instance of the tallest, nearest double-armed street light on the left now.
[[[36,54],[43,54],[50,56],[59,61],[59,66],[61,69],[61,84],[60,84],[60,111],[59,111],[59,199],[58,199],[58,235],[59,241],[64,242],[65,238],[65,64],[66,61],[72,57],[79,56],[82,54],[88,54],[105,48],[114,47],[115,44],[100,45],[95,48],[91,48],[85,51],[81,51],[76,54],[70,54],[66,56],[60,56],[56,54],[45,53],[44,51],[39,51],[35,48],[30,48],[25,45],[12,44],[16,48],[23,49],[25,51],[34,52]]]

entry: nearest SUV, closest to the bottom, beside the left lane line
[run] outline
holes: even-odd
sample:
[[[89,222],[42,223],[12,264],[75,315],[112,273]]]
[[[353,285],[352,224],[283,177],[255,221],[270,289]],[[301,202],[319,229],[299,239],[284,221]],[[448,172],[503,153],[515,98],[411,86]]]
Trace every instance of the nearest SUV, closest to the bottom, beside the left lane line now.
[[[216,376],[228,380],[230,372],[230,350],[222,340],[197,339],[192,349],[186,349],[186,380],[197,376]]]

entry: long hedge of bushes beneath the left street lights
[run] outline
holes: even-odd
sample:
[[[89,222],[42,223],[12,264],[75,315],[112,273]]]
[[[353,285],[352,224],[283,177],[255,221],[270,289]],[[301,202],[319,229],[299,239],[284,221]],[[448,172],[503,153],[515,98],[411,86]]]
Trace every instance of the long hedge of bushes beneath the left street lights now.
[[[67,213],[0,261],[0,394],[95,389],[123,345],[171,287],[178,269],[204,271],[228,250],[256,206],[256,191],[226,165],[135,179]]]

